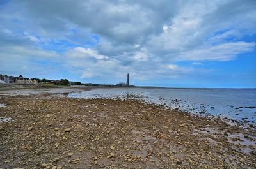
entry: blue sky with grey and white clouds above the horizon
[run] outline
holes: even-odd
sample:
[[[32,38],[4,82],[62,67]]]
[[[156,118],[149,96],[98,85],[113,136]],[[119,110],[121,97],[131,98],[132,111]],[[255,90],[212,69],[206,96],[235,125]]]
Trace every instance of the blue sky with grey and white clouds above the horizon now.
[[[0,73],[256,87],[256,1],[0,1]]]

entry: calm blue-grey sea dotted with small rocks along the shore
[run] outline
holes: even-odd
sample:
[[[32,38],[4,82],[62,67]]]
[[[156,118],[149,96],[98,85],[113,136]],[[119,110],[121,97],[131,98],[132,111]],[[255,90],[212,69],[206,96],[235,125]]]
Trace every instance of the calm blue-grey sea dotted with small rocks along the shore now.
[[[110,88],[70,93],[68,97],[139,99],[191,114],[256,124],[256,89]]]

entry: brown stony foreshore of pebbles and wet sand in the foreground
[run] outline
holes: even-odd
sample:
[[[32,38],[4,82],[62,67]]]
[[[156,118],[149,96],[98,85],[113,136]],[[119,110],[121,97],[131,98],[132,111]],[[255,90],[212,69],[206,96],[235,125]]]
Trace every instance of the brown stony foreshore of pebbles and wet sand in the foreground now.
[[[136,100],[2,95],[0,168],[256,168],[254,126]]]

